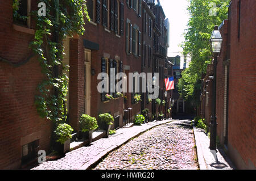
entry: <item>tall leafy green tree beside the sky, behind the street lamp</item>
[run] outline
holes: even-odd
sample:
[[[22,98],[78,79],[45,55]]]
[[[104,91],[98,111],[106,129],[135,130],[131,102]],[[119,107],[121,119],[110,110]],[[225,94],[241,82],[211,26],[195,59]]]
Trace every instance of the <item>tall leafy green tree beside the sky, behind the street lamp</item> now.
[[[214,26],[227,18],[229,0],[190,0],[188,29],[181,45],[183,54],[191,57],[189,68],[181,73],[178,90],[181,97],[195,105],[200,103],[201,76],[206,73],[212,59],[209,43]],[[217,16],[210,16],[212,3],[216,3]]]

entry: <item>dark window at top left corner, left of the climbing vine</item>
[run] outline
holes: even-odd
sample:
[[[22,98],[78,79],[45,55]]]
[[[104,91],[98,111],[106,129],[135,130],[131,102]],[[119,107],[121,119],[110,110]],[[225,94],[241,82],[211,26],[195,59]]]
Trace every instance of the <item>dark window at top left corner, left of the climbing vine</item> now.
[[[18,10],[14,11],[14,23],[30,28],[31,0],[20,0]]]

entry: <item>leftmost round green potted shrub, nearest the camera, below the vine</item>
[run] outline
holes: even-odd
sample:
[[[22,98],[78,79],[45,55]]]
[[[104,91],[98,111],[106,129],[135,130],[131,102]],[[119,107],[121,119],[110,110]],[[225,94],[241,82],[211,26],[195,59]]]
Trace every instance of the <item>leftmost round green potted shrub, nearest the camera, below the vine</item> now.
[[[54,133],[57,137],[56,142],[60,142],[60,144],[64,144],[69,138],[72,138],[71,134],[74,130],[70,125],[66,123],[58,124]]]

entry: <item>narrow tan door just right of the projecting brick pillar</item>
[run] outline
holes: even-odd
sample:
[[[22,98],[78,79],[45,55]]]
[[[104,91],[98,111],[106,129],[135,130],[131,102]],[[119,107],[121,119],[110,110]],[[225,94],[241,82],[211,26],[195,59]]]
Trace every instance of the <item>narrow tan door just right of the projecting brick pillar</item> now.
[[[85,102],[85,114],[90,115],[90,69],[92,61],[92,53],[89,49],[84,49],[84,102]]]

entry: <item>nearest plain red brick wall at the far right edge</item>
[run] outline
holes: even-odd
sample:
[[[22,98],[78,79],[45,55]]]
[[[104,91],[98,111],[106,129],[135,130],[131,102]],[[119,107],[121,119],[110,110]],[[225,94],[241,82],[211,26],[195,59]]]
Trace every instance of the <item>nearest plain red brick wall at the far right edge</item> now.
[[[237,2],[232,1],[229,18],[231,47],[228,151],[238,169],[255,169],[256,3],[253,0],[241,1],[241,32],[238,39]]]

